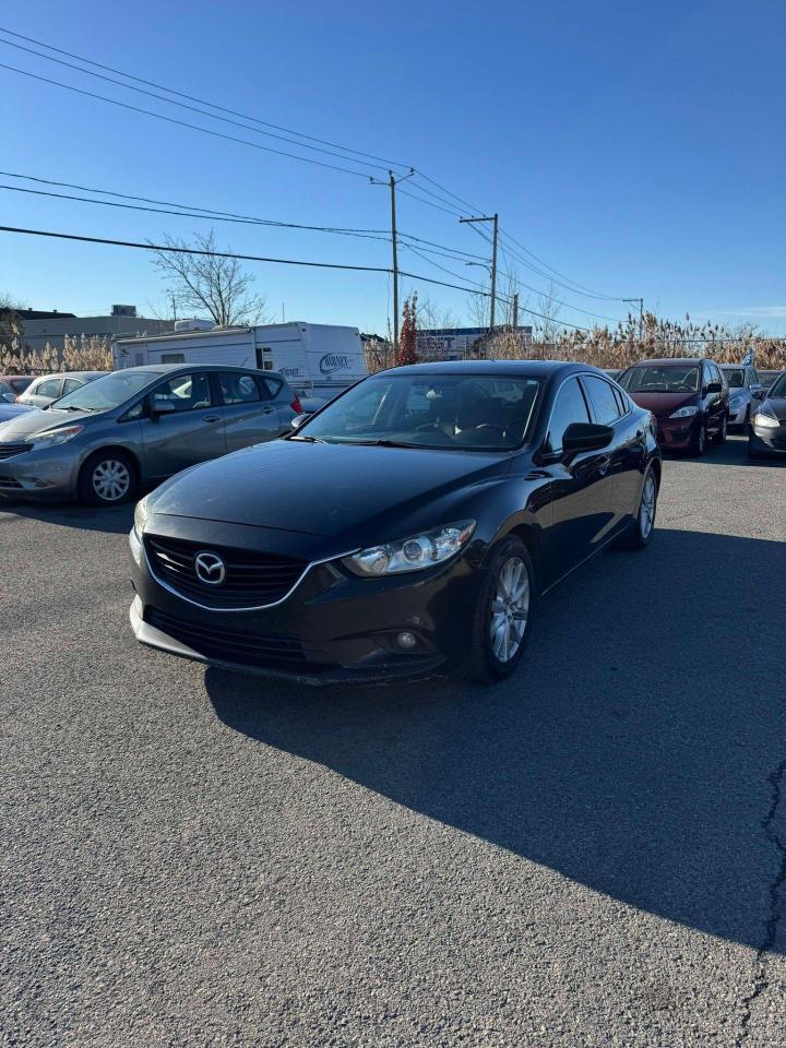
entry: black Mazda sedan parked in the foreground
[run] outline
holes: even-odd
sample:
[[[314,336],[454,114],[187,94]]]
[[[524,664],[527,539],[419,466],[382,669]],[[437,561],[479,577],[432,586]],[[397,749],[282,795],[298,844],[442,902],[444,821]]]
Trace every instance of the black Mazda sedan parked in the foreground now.
[[[659,483],[652,415],[594,368],[383,371],[143,499],[131,623],[308,683],[500,680],[541,594],[611,543],[648,544]]]

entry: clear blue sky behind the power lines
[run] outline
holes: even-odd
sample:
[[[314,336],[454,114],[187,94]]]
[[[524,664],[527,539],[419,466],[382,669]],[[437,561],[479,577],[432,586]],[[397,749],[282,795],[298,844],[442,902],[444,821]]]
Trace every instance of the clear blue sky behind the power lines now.
[[[521,258],[500,258],[520,281],[569,302],[563,321],[593,322],[573,307],[611,317],[627,309],[579,294],[577,282],[619,298],[641,295],[674,318],[688,311],[786,333],[782,0],[400,0],[385,8],[140,0],[126,10],[93,0],[7,0],[0,24],[261,120],[414,165],[499,212],[504,230],[570,278],[570,288],[552,287],[510,241]],[[0,62],[38,75],[289,148],[7,45],[0,52]],[[4,171],[300,224],[384,229],[389,223],[386,190],[364,177],[211,138],[5,69],[0,98]],[[9,177],[0,183],[34,184]],[[420,193],[440,192],[419,186]],[[382,266],[390,259],[384,241],[8,190],[0,190],[0,219],[136,240],[164,231],[188,238],[214,225],[222,245],[252,254]],[[457,215],[403,194],[398,224],[450,248],[488,253]],[[0,291],[34,308],[90,313],[131,302],[147,314],[165,310],[144,252],[1,236]],[[404,248],[400,264],[437,279],[454,277],[433,263],[462,283],[486,279],[480,266],[429,259]],[[271,309],[281,314],[283,305],[287,319],[386,326],[384,274],[252,270]],[[464,293],[415,286],[469,322]],[[403,282],[404,293],[412,287]],[[522,302],[538,309],[536,293],[520,291]]]

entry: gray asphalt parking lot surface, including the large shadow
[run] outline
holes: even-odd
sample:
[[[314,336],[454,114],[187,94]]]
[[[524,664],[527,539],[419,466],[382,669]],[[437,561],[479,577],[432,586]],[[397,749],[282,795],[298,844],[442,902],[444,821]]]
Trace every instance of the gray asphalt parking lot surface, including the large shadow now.
[[[667,462],[495,690],[143,650],[131,515],[0,504],[2,1044],[786,1045],[786,466]]]

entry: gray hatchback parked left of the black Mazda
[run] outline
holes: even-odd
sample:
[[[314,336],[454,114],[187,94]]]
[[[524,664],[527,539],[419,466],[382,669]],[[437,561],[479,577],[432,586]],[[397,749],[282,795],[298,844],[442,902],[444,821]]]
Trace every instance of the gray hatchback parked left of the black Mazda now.
[[[163,364],[114,371],[0,424],[0,496],[122,502],[143,485],[289,432],[299,410],[275,371]]]

